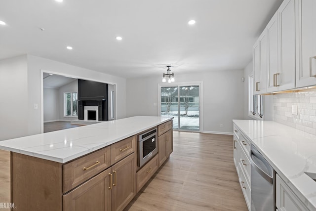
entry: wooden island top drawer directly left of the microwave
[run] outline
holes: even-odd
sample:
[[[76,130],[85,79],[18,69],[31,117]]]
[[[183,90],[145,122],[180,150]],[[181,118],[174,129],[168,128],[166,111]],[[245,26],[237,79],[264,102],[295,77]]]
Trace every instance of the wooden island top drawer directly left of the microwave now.
[[[135,152],[136,149],[136,136],[131,136],[122,141],[111,145],[111,164],[125,158],[127,155]]]

